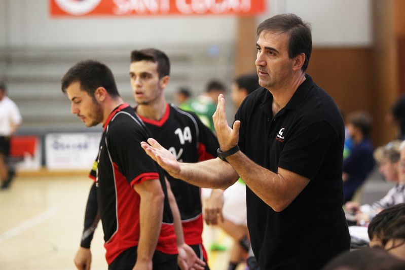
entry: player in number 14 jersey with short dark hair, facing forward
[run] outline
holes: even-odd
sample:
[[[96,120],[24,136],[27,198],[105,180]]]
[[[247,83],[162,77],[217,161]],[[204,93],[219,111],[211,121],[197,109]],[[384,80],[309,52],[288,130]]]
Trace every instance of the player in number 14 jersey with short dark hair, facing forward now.
[[[164,89],[170,80],[170,62],[164,52],[157,49],[133,51],[129,76],[138,103],[136,113],[152,135],[159,138],[178,161],[195,163],[216,157],[218,142],[197,115],[166,102]],[[200,188],[178,181],[169,174],[166,177],[180,211],[185,242],[206,261],[201,238],[203,217]]]

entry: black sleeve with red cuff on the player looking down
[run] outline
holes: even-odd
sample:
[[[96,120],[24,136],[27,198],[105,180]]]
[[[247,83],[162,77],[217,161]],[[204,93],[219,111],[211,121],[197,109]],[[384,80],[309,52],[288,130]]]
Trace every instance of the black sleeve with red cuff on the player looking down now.
[[[145,180],[159,179],[155,162],[140,146],[146,141],[143,127],[135,122],[116,123],[107,133],[108,150],[113,162],[133,186]]]

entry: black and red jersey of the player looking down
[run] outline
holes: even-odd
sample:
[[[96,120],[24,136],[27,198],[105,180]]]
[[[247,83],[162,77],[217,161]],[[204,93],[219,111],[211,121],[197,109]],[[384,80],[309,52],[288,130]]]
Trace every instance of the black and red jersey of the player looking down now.
[[[128,104],[116,108],[103,127],[95,181],[108,264],[124,250],[138,245],[140,196],[133,185],[150,179],[160,179],[165,194],[156,250],[177,254],[163,170],[140,146],[141,141],[150,137],[147,129]]]

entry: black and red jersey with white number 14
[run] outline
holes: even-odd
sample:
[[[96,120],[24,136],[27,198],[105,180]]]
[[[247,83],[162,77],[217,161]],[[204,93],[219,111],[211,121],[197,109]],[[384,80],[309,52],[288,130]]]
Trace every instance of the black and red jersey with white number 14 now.
[[[159,121],[138,116],[152,137],[173,153],[179,162],[196,163],[216,157],[219,145],[215,135],[193,112],[167,104],[165,114]],[[175,179],[168,173],[166,177],[180,211],[186,244],[201,244],[203,218],[200,187]]]

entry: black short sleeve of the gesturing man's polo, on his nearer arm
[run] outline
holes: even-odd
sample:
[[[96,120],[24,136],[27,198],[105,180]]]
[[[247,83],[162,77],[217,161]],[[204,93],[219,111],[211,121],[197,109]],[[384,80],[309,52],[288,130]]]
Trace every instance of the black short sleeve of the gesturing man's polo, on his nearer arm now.
[[[325,121],[305,126],[301,123],[301,126],[288,134],[278,167],[313,179],[333,147],[338,147],[338,138]]]

